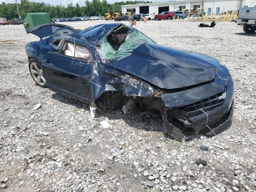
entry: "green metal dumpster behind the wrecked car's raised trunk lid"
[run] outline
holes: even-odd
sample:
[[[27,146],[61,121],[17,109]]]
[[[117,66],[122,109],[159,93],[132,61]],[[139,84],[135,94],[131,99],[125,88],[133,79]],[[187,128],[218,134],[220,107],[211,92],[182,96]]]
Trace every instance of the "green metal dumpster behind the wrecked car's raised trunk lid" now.
[[[25,27],[26,32],[41,24],[51,23],[50,14],[45,12],[40,13],[26,13],[23,18],[23,25]]]

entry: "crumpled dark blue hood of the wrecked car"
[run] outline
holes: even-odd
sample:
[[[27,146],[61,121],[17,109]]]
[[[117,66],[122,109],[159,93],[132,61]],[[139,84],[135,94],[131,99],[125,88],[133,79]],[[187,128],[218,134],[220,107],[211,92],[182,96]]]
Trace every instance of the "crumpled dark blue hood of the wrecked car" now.
[[[163,89],[176,89],[213,80],[218,60],[195,52],[144,43],[109,66]]]

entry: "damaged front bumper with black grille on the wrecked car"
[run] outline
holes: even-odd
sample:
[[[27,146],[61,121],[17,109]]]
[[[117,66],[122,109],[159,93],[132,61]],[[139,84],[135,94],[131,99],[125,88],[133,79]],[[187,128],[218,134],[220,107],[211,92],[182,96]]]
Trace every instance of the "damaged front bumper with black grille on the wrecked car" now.
[[[207,88],[204,86],[180,92],[178,96],[182,102],[186,102],[186,96],[201,94],[204,97],[200,101],[183,106],[170,106],[165,110],[164,116],[164,132],[170,134],[176,140],[181,141],[182,132],[191,132],[193,134],[216,135],[225,130],[231,123],[234,113],[234,84],[231,77],[226,80],[224,90],[218,92],[217,84],[208,84]],[[205,98],[212,92],[213,95]],[[193,96],[192,96],[193,98]],[[166,101],[165,96],[162,98]],[[178,100],[178,97],[176,98]],[[179,102],[176,103],[180,104]],[[189,103],[189,102],[188,102]],[[184,110],[190,111],[184,112]]]

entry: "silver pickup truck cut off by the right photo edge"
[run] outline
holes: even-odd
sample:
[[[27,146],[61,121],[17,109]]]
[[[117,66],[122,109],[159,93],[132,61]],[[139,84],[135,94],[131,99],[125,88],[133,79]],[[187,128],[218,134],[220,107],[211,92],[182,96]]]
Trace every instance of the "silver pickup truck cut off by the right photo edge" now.
[[[256,7],[243,7],[238,10],[236,22],[243,25],[244,32],[256,31]]]

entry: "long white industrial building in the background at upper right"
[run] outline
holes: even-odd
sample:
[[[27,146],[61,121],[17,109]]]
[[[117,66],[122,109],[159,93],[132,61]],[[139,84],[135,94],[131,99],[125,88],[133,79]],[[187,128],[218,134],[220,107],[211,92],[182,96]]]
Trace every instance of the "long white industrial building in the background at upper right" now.
[[[180,0],[154,3],[138,3],[134,5],[123,5],[122,13],[133,11],[144,14],[160,14],[164,11],[176,11],[182,9],[196,9],[202,7],[206,15],[220,15],[228,11],[236,11],[240,7],[255,7],[256,0]]]

